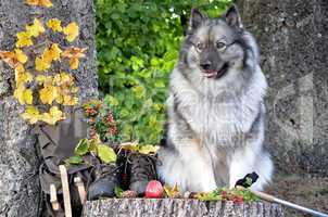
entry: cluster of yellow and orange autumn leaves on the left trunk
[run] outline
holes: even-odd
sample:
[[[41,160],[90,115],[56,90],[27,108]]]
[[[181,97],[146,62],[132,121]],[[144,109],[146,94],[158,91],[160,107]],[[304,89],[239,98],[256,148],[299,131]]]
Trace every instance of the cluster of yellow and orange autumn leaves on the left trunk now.
[[[53,7],[50,0],[26,0],[25,3]],[[65,72],[65,62],[71,72],[77,69],[87,49],[61,47],[49,39],[47,33],[62,34],[68,43],[76,40],[78,25],[75,22],[62,23],[59,18],[43,21],[42,15],[38,15],[16,34],[13,51],[0,51],[0,60],[14,71],[14,98],[25,106],[22,117],[29,124],[43,122],[54,125],[65,118],[60,107],[78,104],[76,79],[72,73]]]

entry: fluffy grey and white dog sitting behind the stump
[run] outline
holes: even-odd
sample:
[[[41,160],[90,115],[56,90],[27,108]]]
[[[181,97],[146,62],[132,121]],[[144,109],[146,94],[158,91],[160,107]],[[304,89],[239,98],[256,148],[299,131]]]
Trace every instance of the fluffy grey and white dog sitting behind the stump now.
[[[256,42],[237,7],[218,18],[193,9],[171,74],[160,178],[182,191],[206,192],[232,188],[255,171],[252,188],[262,190],[274,168],[263,145],[266,88]]]

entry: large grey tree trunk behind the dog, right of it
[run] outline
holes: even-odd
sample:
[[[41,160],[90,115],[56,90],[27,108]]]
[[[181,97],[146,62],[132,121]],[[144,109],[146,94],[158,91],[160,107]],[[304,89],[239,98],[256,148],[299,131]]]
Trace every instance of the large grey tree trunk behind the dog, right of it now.
[[[328,1],[238,0],[268,79],[277,170],[328,176]]]

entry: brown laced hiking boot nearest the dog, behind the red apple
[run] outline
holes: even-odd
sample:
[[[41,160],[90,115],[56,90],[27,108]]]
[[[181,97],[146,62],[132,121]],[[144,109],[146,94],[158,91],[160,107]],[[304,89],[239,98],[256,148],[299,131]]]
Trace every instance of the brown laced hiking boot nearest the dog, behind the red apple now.
[[[143,195],[150,180],[156,179],[155,158],[144,154],[133,153],[128,156],[130,162],[130,186],[138,195]]]

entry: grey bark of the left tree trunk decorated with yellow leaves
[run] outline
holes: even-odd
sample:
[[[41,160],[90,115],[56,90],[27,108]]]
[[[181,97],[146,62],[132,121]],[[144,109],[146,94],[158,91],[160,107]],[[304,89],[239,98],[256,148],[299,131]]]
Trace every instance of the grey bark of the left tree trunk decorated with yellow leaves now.
[[[75,71],[79,99],[84,102],[98,95],[93,1],[52,0],[50,9],[28,7],[24,2],[0,1],[0,50],[13,50],[15,34],[23,30],[25,24],[31,23],[35,16],[42,21],[58,17],[65,25],[76,22],[80,35],[74,46],[88,48],[87,58]],[[61,42],[65,44],[62,39]],[[13,98],[14,86],[13,69],[0,62],[0,216],[37,216],[41,200],[39,148],[30,126],[20,117],[23,107]]]

